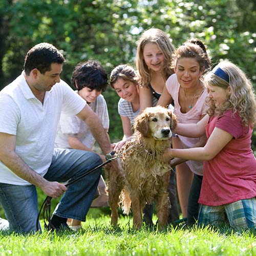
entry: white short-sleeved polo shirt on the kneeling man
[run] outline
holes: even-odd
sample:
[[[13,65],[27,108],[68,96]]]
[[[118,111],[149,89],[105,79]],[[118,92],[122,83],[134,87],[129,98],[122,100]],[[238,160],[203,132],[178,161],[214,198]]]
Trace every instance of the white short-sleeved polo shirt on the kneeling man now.
[[[62,80],[46,92],[42,104],[29,88],[23,72],[0,92],[0,132],[16,135],[16,154],[44,176],[51,164],[61,110],[73,116],[85,105],[86,101]],[[1,161],[0,182],[30,184]]]

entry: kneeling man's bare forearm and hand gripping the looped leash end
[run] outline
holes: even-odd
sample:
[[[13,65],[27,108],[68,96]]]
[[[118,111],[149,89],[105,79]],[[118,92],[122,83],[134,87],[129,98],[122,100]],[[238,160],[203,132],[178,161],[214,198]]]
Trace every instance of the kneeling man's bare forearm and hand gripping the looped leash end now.
[[[48,196],[57,198],[67,190],[67,187],[58,182],[50,182],[31,169],[16,153],[16,136],[0,133],[0,161],[14,174],[38,186]]]

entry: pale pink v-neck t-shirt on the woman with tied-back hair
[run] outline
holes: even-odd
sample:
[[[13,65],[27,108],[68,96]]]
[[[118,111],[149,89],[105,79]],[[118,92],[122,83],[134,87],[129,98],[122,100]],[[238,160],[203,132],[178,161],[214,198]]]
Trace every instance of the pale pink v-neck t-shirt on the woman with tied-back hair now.
[[[205,98],[208,96],[206,89],[200,95],[193,108],[191,108],[191,110],[189,110],[187,113],[182,113],[179,103],[180,84],[177,80],[176,74],[169,76],[166,81],[166,88],[174,100],[174,113],[176,114],[180,123],[197,123],[201,116],[206,114],[207,106],[205,105]],[[178,137],[183,145],[183,148],[193,147],[199,141],[199,138],[187,138],[180,135]],[[203,175],[203,161],[189,160],[186,161],[186,164],[193,173]]]

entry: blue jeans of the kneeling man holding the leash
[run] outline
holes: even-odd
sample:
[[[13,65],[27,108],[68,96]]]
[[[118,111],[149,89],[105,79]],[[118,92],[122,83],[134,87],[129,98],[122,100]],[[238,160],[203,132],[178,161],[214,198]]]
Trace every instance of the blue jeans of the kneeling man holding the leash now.
[[[55,148],[52,163],[44,178],[58,182],[72,181],[101,163],[101,158],[92,152]],[[100,174],[101,168],[70,185],[56,207],[54,215],[85,221]],[[38,205],[34,185],[0,183],[0,203],[5,210],[11,230],[28,233],[36,231]]]

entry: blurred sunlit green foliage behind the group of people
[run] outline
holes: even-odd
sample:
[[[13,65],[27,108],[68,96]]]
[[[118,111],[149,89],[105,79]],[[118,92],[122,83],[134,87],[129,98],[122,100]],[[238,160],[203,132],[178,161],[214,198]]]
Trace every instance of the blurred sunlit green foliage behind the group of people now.
[[[256,83],[255,1],[249,0],[3,0],[0,3],[0,88],[23,67],[33,45],[48,41],[66,57],[62,78],[70,81],[77,62],[98,59],[108,73],[120,63],[134,64],[136,42],[143,30],[165,31],[177,47],[201,38],[212,63],[228,58]],[[110,112],[112,140],[122,138],[118,96],[104,93]],[[252,148],[256,150],[254,135]]]

